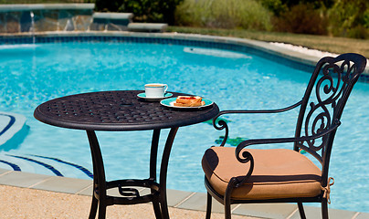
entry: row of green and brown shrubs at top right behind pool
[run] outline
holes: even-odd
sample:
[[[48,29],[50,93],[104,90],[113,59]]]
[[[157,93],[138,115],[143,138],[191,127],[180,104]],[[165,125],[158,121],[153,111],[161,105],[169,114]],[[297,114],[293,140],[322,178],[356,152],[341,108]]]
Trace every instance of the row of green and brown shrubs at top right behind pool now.
[[[175,18],[180,26],[369,38],[368,0],[184,0]]]

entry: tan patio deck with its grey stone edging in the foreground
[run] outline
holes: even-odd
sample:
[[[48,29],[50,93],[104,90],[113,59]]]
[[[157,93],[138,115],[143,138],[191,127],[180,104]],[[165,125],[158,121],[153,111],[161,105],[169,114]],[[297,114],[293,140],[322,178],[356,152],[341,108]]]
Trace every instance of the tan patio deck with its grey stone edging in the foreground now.
[[[144,189],[142,189],[144,190]],[[88,218],[92,181],[0,169],[0,218]],[[111,195],[117,193],[111,191]],[[142,191],[144,193],[144,191]],[[205,218],[206,193],[168,190],[172,218]],[[223,206],[214,202],[213,219],[224,218]],[[321,218],[320,208],[306,206],[308,218]],[[330,209],[332,219],[364,219],[368,213]],[[300,218],[297,204],[235,204],[234,219]],[[115,205],[107,218],[154,218],[150,203]]]

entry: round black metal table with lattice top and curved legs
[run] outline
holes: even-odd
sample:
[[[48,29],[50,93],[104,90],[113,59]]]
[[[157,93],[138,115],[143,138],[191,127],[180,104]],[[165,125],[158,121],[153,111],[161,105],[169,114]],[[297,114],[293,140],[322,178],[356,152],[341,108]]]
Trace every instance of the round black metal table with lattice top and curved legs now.
[[[166,202],[166,174],[169,155],[179,127],[210,120],[219,112],[213,105],[200,110],[176,110],[159,102],[137,98],[141,90],[103,91],[51,99],[37,107],[35,118],[50,125],[86,130],[93,164],[93,195],[90,218],[105,218],[106,207],[112,204],[153,203],[156,218],[169,218]],[[184,95],[174,93],[174,97]],[[160,169],[156,177],[156,161],[160,131],[171,129],[166,139]],[[150,178],[107,182],[99,141],[95,130],[153,130],[150,155]],[[133,186],[150,188],[141,195]],[[107,190],[118,188],[121,196],[110,196]]]

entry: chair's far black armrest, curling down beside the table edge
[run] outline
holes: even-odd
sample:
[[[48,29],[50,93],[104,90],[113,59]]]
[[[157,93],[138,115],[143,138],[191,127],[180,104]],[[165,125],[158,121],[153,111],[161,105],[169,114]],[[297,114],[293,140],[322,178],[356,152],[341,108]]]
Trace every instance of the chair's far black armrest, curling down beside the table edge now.
[[[297,102],[293,105],[290,105],[289,107],[282,108],[282,109],[276,109],[276,110],[223,110],[223,111],[220,111],[216,115],[216,117],[213,119],[213,126],[214,126],[214,128],[216,128],[216,130],[226,129],[225,138],[223,139],[220,146],[224,146],[226,144],[227,138],[228,138],[227,122],[224,121],[224,120],[217,120],[221,115],[229,114],[229,113],[278,113],[278,112],[284,112],[284,111],[295,109],[296,107],[300,106],[301,103],[302,103],[302,100],[300,100],[299,102]],[[216,120],[217,120],[217,124],[216,124]]]

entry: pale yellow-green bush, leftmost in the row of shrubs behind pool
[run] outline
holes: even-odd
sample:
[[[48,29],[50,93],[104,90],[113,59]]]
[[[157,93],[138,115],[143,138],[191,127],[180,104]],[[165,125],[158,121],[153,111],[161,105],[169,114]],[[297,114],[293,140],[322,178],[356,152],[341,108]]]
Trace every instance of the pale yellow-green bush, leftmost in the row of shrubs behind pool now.
[[[255,0],[185,0],[176,25],[270,30],[271,13]]]

